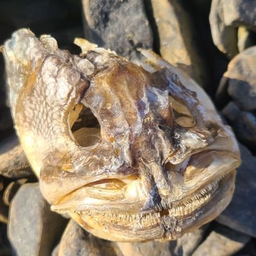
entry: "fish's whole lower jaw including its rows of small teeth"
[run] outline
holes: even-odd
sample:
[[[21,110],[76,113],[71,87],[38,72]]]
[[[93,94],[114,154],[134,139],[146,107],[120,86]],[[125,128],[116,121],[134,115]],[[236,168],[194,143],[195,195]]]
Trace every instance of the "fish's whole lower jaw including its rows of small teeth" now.
[[[213,220],[227,207],[234,192],[235,176],[236,170],[225,173],[194,195],[187,196],[186,200],[161,211],[81,211],[61,209],[61,205],[52,205],[51,209],[70,214],[85,229],[103,239],[128,242],[174,240]]]

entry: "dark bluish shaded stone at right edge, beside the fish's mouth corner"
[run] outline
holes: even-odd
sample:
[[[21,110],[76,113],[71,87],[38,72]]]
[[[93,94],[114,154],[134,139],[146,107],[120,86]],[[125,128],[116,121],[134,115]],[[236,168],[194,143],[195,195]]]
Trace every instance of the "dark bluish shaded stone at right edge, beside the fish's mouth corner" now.
[[[216,220],[234,230],[256,237],[256,157],[243,145],[237,169],[236,189],[228,207]]]

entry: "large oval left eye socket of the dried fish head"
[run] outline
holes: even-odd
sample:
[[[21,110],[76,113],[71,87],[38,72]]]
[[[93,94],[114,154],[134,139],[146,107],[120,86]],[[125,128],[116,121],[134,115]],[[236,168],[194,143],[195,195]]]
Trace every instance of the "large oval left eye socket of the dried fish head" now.
[[[69,115],[69,124],[81,147],[92,147],[100,141],[100,124],[90,108],[77,104]]]

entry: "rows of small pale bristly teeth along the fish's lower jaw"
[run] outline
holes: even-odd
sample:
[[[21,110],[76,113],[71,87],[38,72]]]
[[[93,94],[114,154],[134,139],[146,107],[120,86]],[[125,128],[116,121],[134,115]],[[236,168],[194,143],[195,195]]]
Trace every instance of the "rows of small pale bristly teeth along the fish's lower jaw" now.
[[[188,201],[181,205],[177,205],[168,209],[170,216],[184,216],[196,210],[200,205],[204,204],[211,198],[211,195],[218,189],[218,184],[226,174],[222,175],[216,179],[211,184],[207,185],[200,193],[192,196]],[[112,212],[93,212],[93,211],[68,211],[78,213],[84,216],[90,216],[96,221],[106,221],[118,225],[129,225],[132,227],[146,227],[150,225],[155,225],[161,221],[160,212],[150,212],[147,214],[116,214]]]

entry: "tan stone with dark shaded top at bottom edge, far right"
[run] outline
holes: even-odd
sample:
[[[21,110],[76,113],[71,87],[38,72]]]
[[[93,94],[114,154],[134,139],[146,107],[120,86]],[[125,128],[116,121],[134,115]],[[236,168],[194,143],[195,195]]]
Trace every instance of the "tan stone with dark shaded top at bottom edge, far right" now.
[[[241,250],[250,236],[227,227],[217,225],[205,241],[196,248],[192,256],[227,256]]]

